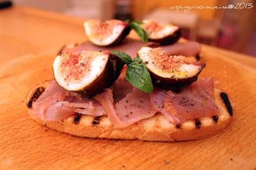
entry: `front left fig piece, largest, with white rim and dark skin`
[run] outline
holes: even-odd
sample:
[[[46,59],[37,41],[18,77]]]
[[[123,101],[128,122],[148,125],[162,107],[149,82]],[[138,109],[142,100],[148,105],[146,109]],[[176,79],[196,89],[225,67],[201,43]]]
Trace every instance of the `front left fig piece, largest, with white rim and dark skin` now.
[[[93,96],[110,87],[119,77],[124,62],[108,51],[65,52],[53,62],[56,82],[68,91]]]

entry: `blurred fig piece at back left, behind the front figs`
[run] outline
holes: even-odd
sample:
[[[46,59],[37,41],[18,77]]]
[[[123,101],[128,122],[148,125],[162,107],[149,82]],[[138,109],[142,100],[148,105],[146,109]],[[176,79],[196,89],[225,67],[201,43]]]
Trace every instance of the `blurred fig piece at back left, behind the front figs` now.
[[[97,46],[113,46],[118,44],[131,30],[127,22],[117,19],[105,22],[99,19],[89,19],[83,23],[83,26],[89,41]]]

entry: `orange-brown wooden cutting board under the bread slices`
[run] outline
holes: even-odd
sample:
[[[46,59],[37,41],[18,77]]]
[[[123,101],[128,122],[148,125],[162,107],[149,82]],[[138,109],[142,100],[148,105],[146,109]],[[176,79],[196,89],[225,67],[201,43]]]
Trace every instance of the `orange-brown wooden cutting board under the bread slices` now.
[[[84,41],[81,23],[24,7],[0,11],[0,169],[256,168],[256,60],[208,46],[201,76],[213,77],[234,107],[229,127],[213,137],[175,143],[80,138],[29,118],[28,90],[53,78],[62,44]]]

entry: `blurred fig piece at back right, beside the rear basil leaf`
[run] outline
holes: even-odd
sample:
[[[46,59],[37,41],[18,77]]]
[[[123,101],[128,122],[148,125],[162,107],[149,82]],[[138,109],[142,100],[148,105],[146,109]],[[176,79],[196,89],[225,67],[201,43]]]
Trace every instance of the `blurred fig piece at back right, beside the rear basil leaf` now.
[[[146,31],[149,41],[158,42],[161,45],[173,44],[181,36],[180,28],[173,24],[159,23],[154,20],[143,20],[141,26]]]

